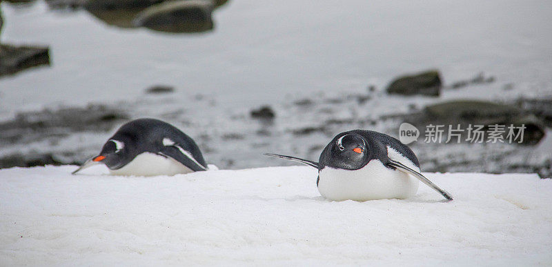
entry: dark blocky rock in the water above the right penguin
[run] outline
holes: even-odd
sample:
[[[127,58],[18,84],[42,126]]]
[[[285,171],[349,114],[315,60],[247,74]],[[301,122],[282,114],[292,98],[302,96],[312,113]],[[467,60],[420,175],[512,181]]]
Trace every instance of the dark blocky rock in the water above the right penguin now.
[[[438,97],[441,87],[442,83],[439,71],[428,70],[417,75],[408,75],[395,79],[387,87],[387,93]]]

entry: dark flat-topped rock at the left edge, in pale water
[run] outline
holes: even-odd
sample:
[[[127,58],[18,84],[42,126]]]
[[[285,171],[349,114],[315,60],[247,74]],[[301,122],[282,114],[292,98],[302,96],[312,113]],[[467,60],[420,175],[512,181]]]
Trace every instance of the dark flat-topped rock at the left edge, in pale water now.
[[[0,77],[41,65],[50,65],[48,47],[0,45]]]

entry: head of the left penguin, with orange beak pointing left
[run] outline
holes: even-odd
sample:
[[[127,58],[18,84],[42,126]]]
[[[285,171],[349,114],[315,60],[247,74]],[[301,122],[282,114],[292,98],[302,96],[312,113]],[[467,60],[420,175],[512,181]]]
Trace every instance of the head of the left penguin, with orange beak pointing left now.
[[[130,148],[124,141],[109,139],[103,144],[99,155],[92,158],[92,161],[103,163],[111,170],[122,168],[132,160]]]

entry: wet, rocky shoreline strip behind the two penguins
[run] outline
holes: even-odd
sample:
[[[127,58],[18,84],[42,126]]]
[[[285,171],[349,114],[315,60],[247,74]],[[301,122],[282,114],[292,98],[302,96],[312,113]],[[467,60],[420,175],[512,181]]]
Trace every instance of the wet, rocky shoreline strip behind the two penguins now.
[[[148,92],[146,91],[146,94]],[[170,94],[172,92],[164,92]],[[364,97],[373,95],[367,92]],[[342,98],[322,97],[321,99],[297,99],[282,103],[281,106],[262,106],[252,108],[249,115],[227,117],[230,123],[243,125],[244,132],[220,129],[216,133],[203,132],[197,138],[198,144],[210,163],[220,168],[246,168],[248,160],[262,164],[275,164],[271,159],[260,157],[263,152],[288,148],[277,146],[282,140],[290,141],[293,146],[308,144],[302,150],[295,150],[304,157],[315,157],[324,148],[324,138],[330,138],[344,128],[366,128],[387,132],[397,137],[398,125],[411,122],[420,129],[428,123],[526,123],[527,129],[523,144],[425,144],[422,139],[411,144],[417,152],[424,170],[430,172],[477,171],[477,172],[536,172],[541,177],[552,176],[552,157],[531,156],[535,147],[541,146],[546,137],[550,121],[548,103],[550,99],[518,99],[512,103],[491,103],[485,101],[444,101],[428,105],[425,108],[406,113],[382,115],[380,117],[340,118],[335,116],[335,109],[358,103],[362,94],[348,95]],[[372,96],[377,98],[377,96]],[[369,102],[369,101],[368,101]],[[528,104],[529,103],[529,104]],[[144,103],[140,103],[144,104]],[[132,106],[125,103],[124,106]],[[450,107],[450,108],[449,108]],[[486,107],[486,108],[483,108]],[[362,108],[362,105],[359,106]],[[364,106],[366,108],[366,106]],[[0,138],[0,168],[13,166],[41,166],[44,164],[63,165],[77,164],[93,154],[118,126],[128,119],[135,118],[132,111],[105,105],[89,105],[86,108],[61,108],[59,110],[42,110],[39,112],[19,113],[14,119],[0,123],[0,130],[6,135]],[[297,127],[297,123],[286,123],[289,116],[301,110],[304,116],[317,116],[321,110],[328,110],[325,121],[309,120]],[[451,113],[453,112],[453,113]],[[491,112],[491,113],[489,113]],[[492,116],[491,116],[492,115]],[[166,114],[159,116],[168,121],[189,121],[186,113]],[[166,117],[166,118],[165,118]],[[78,118],[78,119],[77,119]],[[172,119],[171,119],[172,118]],[[282,120],[284,122],[282,122]],[[257,121],[259,124],[248,129]],[[177,123],[178,125],[179,123]],[[181,123],[180,123],[181,125]],[[462,124],[463,125],[463,124]],[[517,124],[516,124],[517,125]],[[275,130],[281,128],[283,130]],[[95,134],[95,132],[97,134]],[[447,132],[444,132],[446,135]],[[34,143],[49,143],[57,146],[62,139],[79,135],[99,135],[95,146],[61,148],[56,152],[11,152],[7,148],[14,144],[28,146]],[[101,137],[106,136],[106,137]],[[465,135],[462,136],[465,139]],[[254,144],[250,144],[252,140]],[[213,145],[215,144],[215,145]],[[92,144],[90,144],[92,145]],[[249,149],[243,159],[229,157],[228,151],[233,147]],[[216,148],[215,148],[216,147]],[[255,152],[257,151],[257,152]],[[435,153],[434,151],[440,151]],[[475,153],[475,155],[474,155]],[[479,155],[478,155],[479,154]],[[279,163],[278,163],[279,164]],[[285,163],[284,163],[285,164]]]

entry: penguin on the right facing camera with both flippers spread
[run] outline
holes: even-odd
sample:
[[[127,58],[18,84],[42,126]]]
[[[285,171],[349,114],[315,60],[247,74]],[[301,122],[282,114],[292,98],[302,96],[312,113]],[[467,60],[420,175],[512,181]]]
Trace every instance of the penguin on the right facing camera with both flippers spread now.
[[[416,194],[418,179],[449,201],[449,192],[421,173],[414,152],[381,132],[350,130],[336,135],[319,162],[272,153],[265,155],[298,161],[318,169],[320,195],[335,201],[406,199]]]

